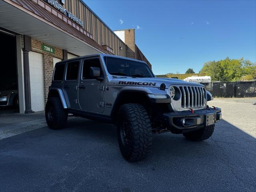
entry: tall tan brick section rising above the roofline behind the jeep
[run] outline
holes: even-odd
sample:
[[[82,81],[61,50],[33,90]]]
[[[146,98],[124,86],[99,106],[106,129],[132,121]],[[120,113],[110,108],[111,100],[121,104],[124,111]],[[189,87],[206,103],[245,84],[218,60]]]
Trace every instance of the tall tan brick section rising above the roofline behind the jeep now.
[[[126,48],[126,57],[135,58],[135,29],[127,29],[124,32]]]

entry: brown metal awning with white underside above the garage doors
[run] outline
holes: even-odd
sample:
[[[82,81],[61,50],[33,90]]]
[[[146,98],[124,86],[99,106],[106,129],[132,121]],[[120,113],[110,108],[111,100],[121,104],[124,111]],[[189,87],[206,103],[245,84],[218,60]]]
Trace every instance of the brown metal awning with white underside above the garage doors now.
[[[26,0],[19,1],[20,4],[22,2],[26,3]],[[37,7],[34,2],[28,3],[40,11],[33,12],[11,0],[0,0],[0,26],[79,56],[106,53],[94,40],[58,20],[59,18],[54,18],[47,10]],[[44,14],[44,18],[39,14]],[[45,17],[46,14],[49,14],[50,18]],[[57,25],[54,24],[54,20]]]

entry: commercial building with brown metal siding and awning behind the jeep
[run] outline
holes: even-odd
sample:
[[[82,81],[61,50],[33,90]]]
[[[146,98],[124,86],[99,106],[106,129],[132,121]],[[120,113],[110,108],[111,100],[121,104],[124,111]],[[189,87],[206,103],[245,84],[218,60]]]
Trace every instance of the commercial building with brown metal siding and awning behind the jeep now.
[[[135,30],[113,32],[82,0],[0,0],[0,90],[18,90],[19,112],[44,110],[56,62],[105,53],[145,61]]]

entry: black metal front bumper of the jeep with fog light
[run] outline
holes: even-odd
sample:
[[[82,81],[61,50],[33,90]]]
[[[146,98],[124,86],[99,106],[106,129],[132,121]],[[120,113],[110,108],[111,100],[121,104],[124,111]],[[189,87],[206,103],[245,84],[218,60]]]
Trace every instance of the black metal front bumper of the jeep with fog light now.
[[[164,122],[172,130],[193,130],[215,124],[222,118],[221,109],[207,107],[203,110],[187,110],[163,114]]]

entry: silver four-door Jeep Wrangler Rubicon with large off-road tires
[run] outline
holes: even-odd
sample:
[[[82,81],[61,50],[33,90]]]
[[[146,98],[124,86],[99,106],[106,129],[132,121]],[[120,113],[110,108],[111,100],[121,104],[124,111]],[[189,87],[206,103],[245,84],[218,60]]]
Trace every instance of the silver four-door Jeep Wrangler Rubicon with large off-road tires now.
[[[113,123],[122,156],[138,161],[150,152],[155,133],[208,139],[221,119],[209,100],[201,84],[156,78],[145,62],[95,54],[55,65],[45,115],[52,129],[64,128],[68,114]]]

